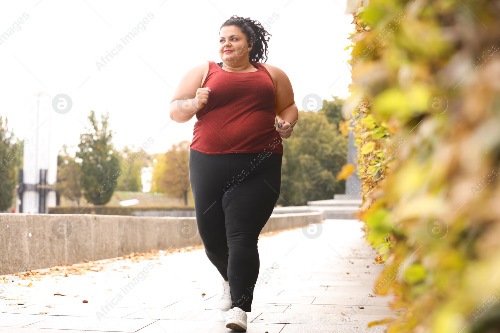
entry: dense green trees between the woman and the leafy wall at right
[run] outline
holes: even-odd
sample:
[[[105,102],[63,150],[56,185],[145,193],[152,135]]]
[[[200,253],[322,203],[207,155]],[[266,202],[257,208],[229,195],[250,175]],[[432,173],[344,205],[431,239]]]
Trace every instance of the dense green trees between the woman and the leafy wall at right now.
[[[276,204],[301,206],[345,192],[345,180],[336,179],[347,160],[347,138],[338,130],[342,103],[334,97],[323,100],[316,114],[299,111],[300,126],[283,140],[281,192]]]

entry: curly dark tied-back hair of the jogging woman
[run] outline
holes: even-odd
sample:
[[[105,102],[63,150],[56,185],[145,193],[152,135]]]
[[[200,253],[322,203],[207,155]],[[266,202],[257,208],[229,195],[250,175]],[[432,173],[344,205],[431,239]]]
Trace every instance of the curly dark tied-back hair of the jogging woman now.
[[[265,36],[272,35],[263,28],[259,21],[253,20],[250,17],[243,18],[237,15],[232,15],[229,19],[222,23],[220,29],[227,25],[237,26],[246,35],[246,41],[248,44],[250,43],[250,40],[253,41],[253,47],[248,54],[250,61],[260,62],[264,56],[265,61],[267,61],[267,41],[269,40],[269,37],[265,39]]]

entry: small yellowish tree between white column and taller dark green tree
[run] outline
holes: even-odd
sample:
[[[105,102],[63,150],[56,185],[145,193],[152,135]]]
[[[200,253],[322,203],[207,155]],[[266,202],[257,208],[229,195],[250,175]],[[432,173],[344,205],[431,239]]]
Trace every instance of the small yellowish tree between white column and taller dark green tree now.
[[[57,156],[56,189],[59,195],[80,205],[81,198],[81,167],[67,152],[66,145],[62,146]]]

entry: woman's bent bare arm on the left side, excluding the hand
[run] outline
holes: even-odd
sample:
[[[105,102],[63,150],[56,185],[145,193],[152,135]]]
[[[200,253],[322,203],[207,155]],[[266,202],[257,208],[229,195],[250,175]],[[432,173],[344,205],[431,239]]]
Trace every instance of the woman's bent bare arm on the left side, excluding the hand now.
[[[180,79],[170,101],[170,119],[179,123],[189,121],[204,105],[196,100],[196,92],[201,88],[203,73],[207,69],[208,62],[199,64],[189,69]]]

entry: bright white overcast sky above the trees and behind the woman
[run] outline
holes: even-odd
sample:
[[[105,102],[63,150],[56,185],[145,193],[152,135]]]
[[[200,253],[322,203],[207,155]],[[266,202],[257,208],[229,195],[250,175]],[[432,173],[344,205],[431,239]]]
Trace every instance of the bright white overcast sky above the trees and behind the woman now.
[[[151,137],[154,143],[145,150],[165,152],[175,142],[190,141],[196,121],[170,121],[176,85],[193,66],[221,61],[219,28],[233,14],[262,24],[279,15],[268,24],[267,63],[288,75],[299,109],[309,93],[327,100],[347,97],[350,49],[343,48],[350,45],[353,25],[343,9],[345,0],[2,1],[0,34],[24,12],[29,18],[0,45],[0,114],[16,136],[30,137],[28,97],[39,91],[51,97],[65,93],[72,109],[51,114],[56,149],[78,144],[82,123],[88,126],[86,117],[94,110],[98,116],[109,111],[116,149],[140,146]],[[145,30],[124,45],[120,38],[149,12],[154,18]],[[117,43],[123,49],[99,71],[95,62]]]

